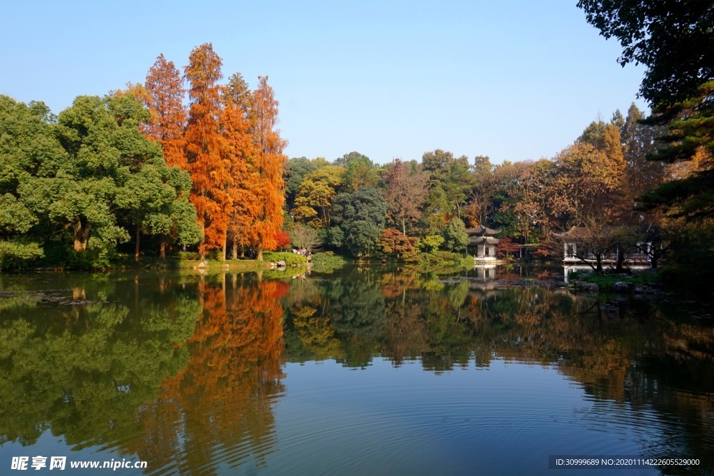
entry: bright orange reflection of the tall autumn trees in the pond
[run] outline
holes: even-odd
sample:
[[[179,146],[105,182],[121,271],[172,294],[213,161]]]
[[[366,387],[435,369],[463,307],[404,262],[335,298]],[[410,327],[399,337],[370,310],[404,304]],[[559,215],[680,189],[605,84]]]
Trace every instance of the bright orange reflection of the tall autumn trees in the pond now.
[[[136,452],[183,474],[206,472],[218,455],[229,467],[248,456],[260,467],[275,444],[271,405],[285,390],[279,298],[289,285],[222,278],[198,284],[203,314],[188,340],[191,360],[141,412],[146,432]]]

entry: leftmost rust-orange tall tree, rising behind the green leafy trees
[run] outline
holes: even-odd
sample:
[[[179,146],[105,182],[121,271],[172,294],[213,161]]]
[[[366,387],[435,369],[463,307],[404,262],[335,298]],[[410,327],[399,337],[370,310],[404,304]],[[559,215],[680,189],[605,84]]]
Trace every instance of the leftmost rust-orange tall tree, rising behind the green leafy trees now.
[[[142,132],[161,144],[164,159],[171,166],[186,168],[183,131],[186,128],[186,107],[183,106],[181,74],[173,61],[166,61],[163,54],[156,59],[146,74],[143,97],[149,107],[151,118],[143,125]]]

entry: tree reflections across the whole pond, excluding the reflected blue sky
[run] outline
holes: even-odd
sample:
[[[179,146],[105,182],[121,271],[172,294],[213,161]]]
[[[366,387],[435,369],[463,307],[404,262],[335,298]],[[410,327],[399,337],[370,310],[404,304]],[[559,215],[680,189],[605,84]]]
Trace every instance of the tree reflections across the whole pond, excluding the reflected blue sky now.
[[[386,359],[396,370],[418,365],[446,378],[506,362],[577,385],[593,402],[575,417],[578,431],[620,435],[644,456],[699,457],[707,465],[698,474],[714,470],[710,320],[683,315],[678,305],[613,305],[523,283],[548,280],[548,270],[498,270],[496,279],[512,281],[508,288],[483,285],[491,272],[480,273],[2,277],[0,446],[31,446],[49,431],[74,449],[138,455],[158,474],[279,472],[286,467],[276,455],[289,441],[278,418],[281,402],[291,401],[286,365],[368,369]],[[330,375],[339,385],[343,374]],[[557,393],[533,390],[558,405]],[[388,400],[370,395],[370,405]],[[544,401],[533,400],[532,424],[562,432],[540,415]],[[437,411],[440,403],[420,405]],[[450,421],[442,421],[446,431]]]

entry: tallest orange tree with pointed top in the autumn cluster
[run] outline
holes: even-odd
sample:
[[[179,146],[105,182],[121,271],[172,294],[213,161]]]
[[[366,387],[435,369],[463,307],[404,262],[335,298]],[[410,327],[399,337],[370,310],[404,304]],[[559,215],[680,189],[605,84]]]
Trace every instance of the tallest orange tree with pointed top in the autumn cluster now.
[[[190,84],[186,127],[186,169],[191,173],[191,203],[196,207],[203,240],[198,252],[206,256],[209,249],[223,248],[226,256],[228,217],[231,211],[231,164],[225,160],[221,136],[221,57],[210,43],[191,51],[186,80]]]

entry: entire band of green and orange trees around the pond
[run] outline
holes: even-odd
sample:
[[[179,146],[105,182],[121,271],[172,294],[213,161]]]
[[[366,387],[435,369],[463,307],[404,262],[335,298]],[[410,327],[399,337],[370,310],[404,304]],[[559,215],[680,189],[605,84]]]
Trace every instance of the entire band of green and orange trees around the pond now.
[[[646,66],[650,113],[632,103],[596,118],[537,161],[441,148],[421,160],[288,159],[268,78],[253,91],[239,73],[223,81],[211,44],[183,73],[160,55],[144,83],[79,96],[57,116],[0,96],[0,264],[262,260],[291,248],[419,263],[464,255],[478,224],[501,231],[503,257],[553,260],[553,233],[577,226],[603,248],[650,243],[666,279],[698,283],[693,269],[714,264],[710,4],[578,6],[620,41],[623,66]]]

